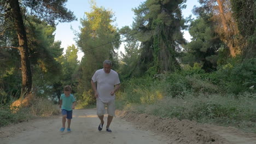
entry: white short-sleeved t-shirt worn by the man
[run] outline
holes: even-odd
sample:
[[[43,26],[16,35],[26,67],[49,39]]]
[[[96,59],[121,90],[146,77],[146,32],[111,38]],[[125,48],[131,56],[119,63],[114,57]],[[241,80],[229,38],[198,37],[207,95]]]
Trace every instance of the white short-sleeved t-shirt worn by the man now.
[[[92,76],[92,81],[97,82],[98,99],[103,103],[108,103],[115,99],[115,95],[110,93],[114,90],[114,86],[120,83],[118,73],[110,70],[110,73],[105,73],[104,69],[99,69]]]

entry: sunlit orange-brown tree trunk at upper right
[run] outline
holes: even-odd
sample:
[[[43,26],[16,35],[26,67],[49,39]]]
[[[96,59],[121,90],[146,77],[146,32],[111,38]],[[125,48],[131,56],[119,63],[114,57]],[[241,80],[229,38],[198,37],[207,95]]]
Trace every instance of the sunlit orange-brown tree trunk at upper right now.
[[[227,34],[228,33],[228,23],[226,21],[226,17],[224,15],[224,10],[223,10],[223,7],[222,7],[223,2],[220,1],[220,0],[217,0],[217,2],[218,2],[219,12],[220,12],[220,17],[222,18],[222,25],[223,25],[223,28],[224,28],[224,32],[225,32],[225,34]],[[229,38],[226,38],[226,43],[228,43],[230,55],[232,57],[235,57],[236,53],[235,53],[235,50],[234,50],[232,40],[230,40]]]

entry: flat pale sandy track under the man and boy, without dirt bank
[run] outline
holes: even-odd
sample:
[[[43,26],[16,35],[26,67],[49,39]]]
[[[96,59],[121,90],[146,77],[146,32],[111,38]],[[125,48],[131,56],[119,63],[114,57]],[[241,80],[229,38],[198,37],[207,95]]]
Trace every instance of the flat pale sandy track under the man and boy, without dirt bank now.
[[[124,119],[114,118],[112,133],[97,130],[99,120],[95,109],[74,110],[72,133],[60,133],[61,117],[37,119],[0,129],[0,143],[168,143],[149,131],[138,130]],[[104,117],[106,123],[106,117]],[[16,129],[16,134],[12,134]],[[2,136],[1,136],[2,135]]]

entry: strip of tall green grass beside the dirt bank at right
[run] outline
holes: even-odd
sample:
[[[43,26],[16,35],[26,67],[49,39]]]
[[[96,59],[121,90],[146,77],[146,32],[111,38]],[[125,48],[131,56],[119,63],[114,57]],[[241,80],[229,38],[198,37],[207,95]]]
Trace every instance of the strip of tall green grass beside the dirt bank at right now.
[[[243,97],[242,97],[243,96]],[[233,126],[256,133],[256,95],[186,95],[182,98],[165,97],[154,104],[130,104],[123,109],[149,115],[189,119],[200,123]],[[122,103],[118,101],[118,103]]]

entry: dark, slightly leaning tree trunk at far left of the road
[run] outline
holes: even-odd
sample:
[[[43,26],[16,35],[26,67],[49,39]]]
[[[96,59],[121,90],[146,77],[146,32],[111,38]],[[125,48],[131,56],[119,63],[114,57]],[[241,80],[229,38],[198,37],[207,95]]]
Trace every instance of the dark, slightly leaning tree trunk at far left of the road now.
[[[30,59],[27,45],[27,35],[22,20],[19,0],[9,0],[11,11],[13,13],[15,26],[17,29],[17,35],[19,39],[19,51],[21,58],[21,73],[22,73],[22,89],[21,94],[27,95],[31,91],[32,87],[32,75],[30,68]]]

